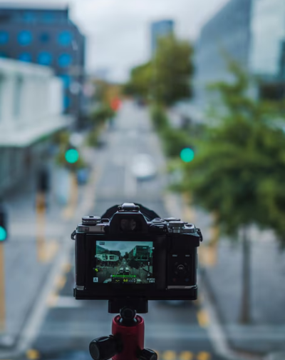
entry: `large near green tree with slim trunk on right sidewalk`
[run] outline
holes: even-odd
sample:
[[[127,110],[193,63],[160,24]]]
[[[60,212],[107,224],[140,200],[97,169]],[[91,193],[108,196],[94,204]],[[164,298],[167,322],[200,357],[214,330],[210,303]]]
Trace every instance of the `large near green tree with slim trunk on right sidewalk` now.
[[[191,191],[197,204],[215,211],[221,229],[242,233],[243,276],[240,321],[250,321],[249,226],[274,229],[285,244],[285,134],[281,104],[253,99],[250,79],[236,64],[231,83],[211,86],[222,106],[214,126],[196,141],[196,156],[183,165],[180,189]]]

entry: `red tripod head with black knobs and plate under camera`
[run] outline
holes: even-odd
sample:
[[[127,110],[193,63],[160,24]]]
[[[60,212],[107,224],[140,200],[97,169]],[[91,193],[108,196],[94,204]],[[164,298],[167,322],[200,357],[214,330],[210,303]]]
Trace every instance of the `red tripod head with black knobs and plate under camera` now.
[[[146,299],[109,300],[108,312],[118,314],[112,321],[112,335],[101,336],[90,342],[89,351],[94,360],[157,360],[157,354],[144,349],[145,321],[137,311],[146,314]]]

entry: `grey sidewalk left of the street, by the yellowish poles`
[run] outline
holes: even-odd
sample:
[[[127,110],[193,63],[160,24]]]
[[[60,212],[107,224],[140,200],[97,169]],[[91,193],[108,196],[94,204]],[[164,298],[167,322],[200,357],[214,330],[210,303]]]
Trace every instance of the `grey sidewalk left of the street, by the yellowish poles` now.
[[[98,156],[96,158],[94,156],[95,150],[84,149],[84,153],[90,165],[90,172],[94,172],[95,166],[96,169],[98,166],[94,161],[98,159]],[[54,181],[56,181],[55,173],[53,173],[53,186]],[[92,185],[94,187],[95,183]],[[33,184],[30,184],[25,191],[6,199],[9,210],[9,240],[4,244],[6,329],[4,334],[0,334],[0,354],[1,350],[15,349],[53,264],[65,244],[71,241],[71,232],[80,220],[78,216],[83,215],[78,214],[78,211],[86,211],[86,206],[90,205],[88,204],[89,183],[79,186],[76,204],[78,206],[74,209],[68,209],[71,204],[59,204],[54,191],[51,191],[44,225],[45,244],[42,246],[36,240],[36,196],[33,189]],[[39,249],[44,255],[41,261],[38,261]]]

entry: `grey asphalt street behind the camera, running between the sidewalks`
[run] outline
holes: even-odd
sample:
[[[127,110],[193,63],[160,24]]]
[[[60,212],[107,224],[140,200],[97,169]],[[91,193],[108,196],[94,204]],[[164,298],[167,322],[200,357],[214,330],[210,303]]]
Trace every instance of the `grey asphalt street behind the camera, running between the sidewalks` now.
[[[94,215],[102,215],[115,204],[132,201],[147,206],[162,217],[175,216],[165,208],[165,160],[146,109],[138,109],[130,102],[125,103],[115,119],[114,128],[108,130],[105,146],[99,152],[98,159],[93,160],[97,162],[100,171],[92,211]],[[140,153],[153,156],[157,165],[157,176],[154,179],[137,181],[131,174],[131,159],[134,154]],[[70,234],[80,220],[69,229]],[[90,341],[110,334],[113,315],[108,314],[107,301],[73,299],[73,250],[68,261],[63,273],[57,274],[61,281],[56,291],[49,296],[52,300],[48,301],[46,317],[31,349],[26,352],[28,359],[90,359]],[[120,267],[126,266],[122,261],[115,268],[119,271]],[[146,276],[147,266],[135,271]],[[195,304],[150,301],[149,313],[143,316],[145,347],[157,351],[161,360],[222,359],[214,354],[207,328],[201,320],[201,312],[199,301],[195,301]]]

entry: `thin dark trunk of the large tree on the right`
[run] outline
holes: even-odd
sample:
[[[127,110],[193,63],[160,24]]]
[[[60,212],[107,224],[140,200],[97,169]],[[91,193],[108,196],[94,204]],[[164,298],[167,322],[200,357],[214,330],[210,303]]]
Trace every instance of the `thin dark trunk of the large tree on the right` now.
[[[250,319],[250,242],[248,228],[242,228],[242,304],[239,322],[249,324]]]

